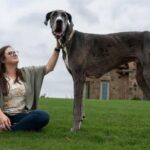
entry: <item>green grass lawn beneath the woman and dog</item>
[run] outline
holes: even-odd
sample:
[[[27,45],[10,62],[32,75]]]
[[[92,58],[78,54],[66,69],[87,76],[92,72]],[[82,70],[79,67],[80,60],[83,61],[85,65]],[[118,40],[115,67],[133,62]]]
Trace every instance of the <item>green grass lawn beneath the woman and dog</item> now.
[[[51,121],[41,132],[0,133],[0,150],[150,150],[149,101],[85,100],[86,119],[71,133],[72,101],[42,99]]]

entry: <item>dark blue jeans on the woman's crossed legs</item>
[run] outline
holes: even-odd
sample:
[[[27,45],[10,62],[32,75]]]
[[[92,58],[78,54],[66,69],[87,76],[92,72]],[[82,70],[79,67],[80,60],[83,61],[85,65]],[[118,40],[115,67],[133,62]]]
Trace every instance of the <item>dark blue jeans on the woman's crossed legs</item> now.
[[[11,131],[39,131],[49,122],[48,113],[40,110],[8,117],[12,123]]]

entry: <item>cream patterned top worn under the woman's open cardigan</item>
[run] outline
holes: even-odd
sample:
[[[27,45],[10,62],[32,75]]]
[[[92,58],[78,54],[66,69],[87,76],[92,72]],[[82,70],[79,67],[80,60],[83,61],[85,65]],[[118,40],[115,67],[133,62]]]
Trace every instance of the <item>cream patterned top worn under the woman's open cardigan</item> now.
[[[3,112],[9,115],[25,112],[25,86],[19,80],[14,83],[13,79],[6,78],[9,83],[9,93],[4,96]]]

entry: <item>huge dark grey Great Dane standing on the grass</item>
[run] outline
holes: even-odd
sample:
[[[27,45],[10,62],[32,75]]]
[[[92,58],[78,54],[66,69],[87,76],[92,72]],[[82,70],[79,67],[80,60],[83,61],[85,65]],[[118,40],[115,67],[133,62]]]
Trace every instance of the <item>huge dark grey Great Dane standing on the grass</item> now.
[[[62,46],[63,59],[74,81],[73,131],[83,119],[83,86],[86,77],[101,77],[118,66],[135,61],[136,79],[150,99],[150,32],[89,34],[73,29],[72,16],[63,10],[46,14],[52,33]]]

